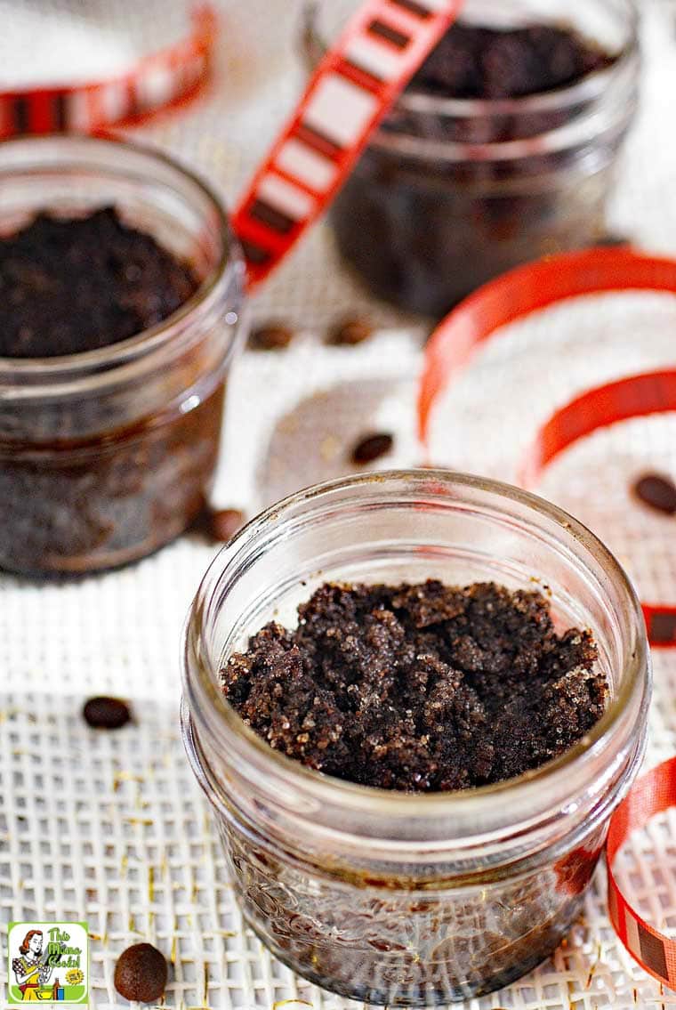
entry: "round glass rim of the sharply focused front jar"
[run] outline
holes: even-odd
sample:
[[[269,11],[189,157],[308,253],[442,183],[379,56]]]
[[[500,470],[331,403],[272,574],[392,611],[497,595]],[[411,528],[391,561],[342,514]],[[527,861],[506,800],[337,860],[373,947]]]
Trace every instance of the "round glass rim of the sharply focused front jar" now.
[[[298,506],[338,491],[356,491],[373,483],[387,481],[406,481],[413,486],[421,486],[421,490],[427,485],[428,492],[430,482],[442,482],[449,488],[485,492],[496,499],[525,506],[529,511],[554,521],[557,526],[565,529],[566,535],[571,539],[582,542],[621,590],[629,619],[636,629],[626,676],[622,678],[617,693],[602,718],[582,740],[559,758],[519,778],[472,790],[423,794],[380,790],[322,775],[274,750],[244,723],[218,690],[218,670],[213,663],[214,658],[206,655],[201,647],[201,628],[211,594],[220,579],[228,571],[236,576],[237,569],[244,564],[243,554],[256,535],[272,523],[278,526],[285,516],[293,513]],[[572,769],[581,768],[586,759],[600,753],[613,734],[622,730],[623,725],[627,728],[627,713],[632,707],[630,702],[633,703],[635,712],[639,711],[647,707],[650,695],[650,664],[641,604],[628,575],[610,550],[586,526],[544,498],[502,482],[447,470],[386,471],[332,480],[297,492],[260,513],[217,554],[210,566],[188,616],[183,649],[183,689],[189,711],[194,711],[191,701],[198,699],[201,718],[216,733],[224,729],[233,733],[243,746],[245,760],[252,760],[259,768],[264,767],[278,773],[279,779],[292,788],[298,786],[300,790],[313,794],[315,799],[342,804],[355,813],[369,812],[383,817],[406,814],[430,818],[442,812],[445,817],[449,817],[454,811],[469,816],[472,808],[477,808],[477,805],[494,800],[517,802],[520,797],[532,794],[543,785],[561,783]],[[197,678],[193,677],[191,662],[197,663]],[[197,729],[199,733],[200,725]]]

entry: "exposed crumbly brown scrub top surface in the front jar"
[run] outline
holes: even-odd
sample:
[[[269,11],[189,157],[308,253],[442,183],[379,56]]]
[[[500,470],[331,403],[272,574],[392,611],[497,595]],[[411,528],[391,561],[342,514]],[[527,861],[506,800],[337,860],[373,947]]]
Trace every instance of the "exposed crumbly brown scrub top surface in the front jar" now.
[[[270,746],[349,782],[448,792],[569,749],[608,688],[591,632],[559,635],[538,592],[326,584],[291,631],[270,623],[221,680]]]

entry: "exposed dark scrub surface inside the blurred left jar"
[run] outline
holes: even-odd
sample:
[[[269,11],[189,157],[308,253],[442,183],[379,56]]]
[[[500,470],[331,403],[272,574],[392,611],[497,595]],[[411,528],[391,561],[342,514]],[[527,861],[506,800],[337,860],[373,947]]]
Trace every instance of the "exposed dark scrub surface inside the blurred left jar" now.
[[[114,207],[38,214],[0,237],[0,356],[95,350],[156,325],[195,294],[192,268]]]

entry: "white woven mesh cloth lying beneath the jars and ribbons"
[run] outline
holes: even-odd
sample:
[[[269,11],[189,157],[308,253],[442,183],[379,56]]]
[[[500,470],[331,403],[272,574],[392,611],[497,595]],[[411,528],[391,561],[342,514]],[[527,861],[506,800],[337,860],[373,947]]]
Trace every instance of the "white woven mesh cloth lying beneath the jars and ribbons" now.
[[[669,132],[676,7],[671,0],[642,4],[652,59],[612,216],[617,229],[676,252],[676,138]],[[221,7],[217,86],[136,135],[201,168],[232,200],[290,109],[302,74],[291,0],[223,0]],[[254,509],[343,472],[351,440],[374,427],[397,432],[388,465],[420,461],[413,397],[425,327],[367,298],[340,270],[326,226],[302,243],[254,310],[296,322],[302,333],[289,352],[247,355],[236,369],[217,490],[222,505]],[[323,346],[327,324],[356,310],[367,310],[383,332],[357,348]],[[513,476],[539,417],[572,392],[673,362],[674,323],[672,299],[628,296],[590,299],[514,327],[477,358],[443,405],[436,458]],[[639,470],[676,470],[675,433],[669,417],[600,433],[567,453],[542,485],[606,537],[645,595],[662,598],[676,598],[673,524],[641,510],[627,489]],[[290,463],[292,450],[302,468]],[[140,565],[80,583],[0,578],[0,942],[4,950],[9,920],[87,919],[99,1010],[123,1002],[112,986],[115,957],[141,938],[172,962],[170,1007],[272,1010],[302,1000],[338,1010],[345,1001],[295,979],[242,927],[178,738],[179,635],[213,553],[184,537]],[[655,673],[651,763],[675,749],[676,658],[657,654]],[[94,692],[130,697],[135,725],[90,731],[80,709]],[[676,923],[674,819],[671,825],[668,818],[653,825],[618,861],[635,902],[664,928]],[[5,972],[0,960],[0,1004]],[[583,919],[555,956],[465,1010],[636,1006],[676,1006],[676,995],[661,993],[616,940],[599,872]]]

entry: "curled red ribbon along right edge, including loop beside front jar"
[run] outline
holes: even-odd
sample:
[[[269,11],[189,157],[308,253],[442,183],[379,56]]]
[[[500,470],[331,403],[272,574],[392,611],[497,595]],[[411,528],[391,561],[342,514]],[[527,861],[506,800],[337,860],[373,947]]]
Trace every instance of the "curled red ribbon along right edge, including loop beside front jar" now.
[[[676,294],[676,262],[630,248],[590,249],[519,268],[479,289],[447,316],[428,343],[418,398],[422,440],[427,441],[441,393],[499,327],[568,298],[628,290]],[[630,376],[588,390],[540,428],[521,481],[527,487],[536,484],[559,453],[599,428],[665,411],[676,411],[676,369]],[[643,609],[652,645],[676,646],[676,606],[644,603]],[[610,819],[606,864],[608,914],[619,939],[646,972],[673,989],[676,938],[660,933],[632,908],[613,873],[617,851],[630,834],[671,806],[676,806],[676,758],[640,779],[617,807]],[[584,875],[580,882],[585,883]],[[572,885],[577,886],[575,878]]]

